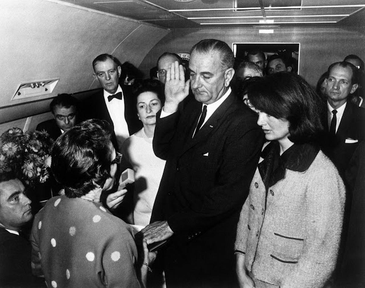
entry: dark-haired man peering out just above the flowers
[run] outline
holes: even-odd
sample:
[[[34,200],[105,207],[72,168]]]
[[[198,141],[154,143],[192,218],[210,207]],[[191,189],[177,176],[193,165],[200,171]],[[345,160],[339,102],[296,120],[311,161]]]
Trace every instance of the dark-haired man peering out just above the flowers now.
[[[45,130],[55,141],[59,135],[70,130],[77,121],[77,100],[69,94],[59,94],[54,97],[49,107],[53,119],[41,122],[36,130]]]

